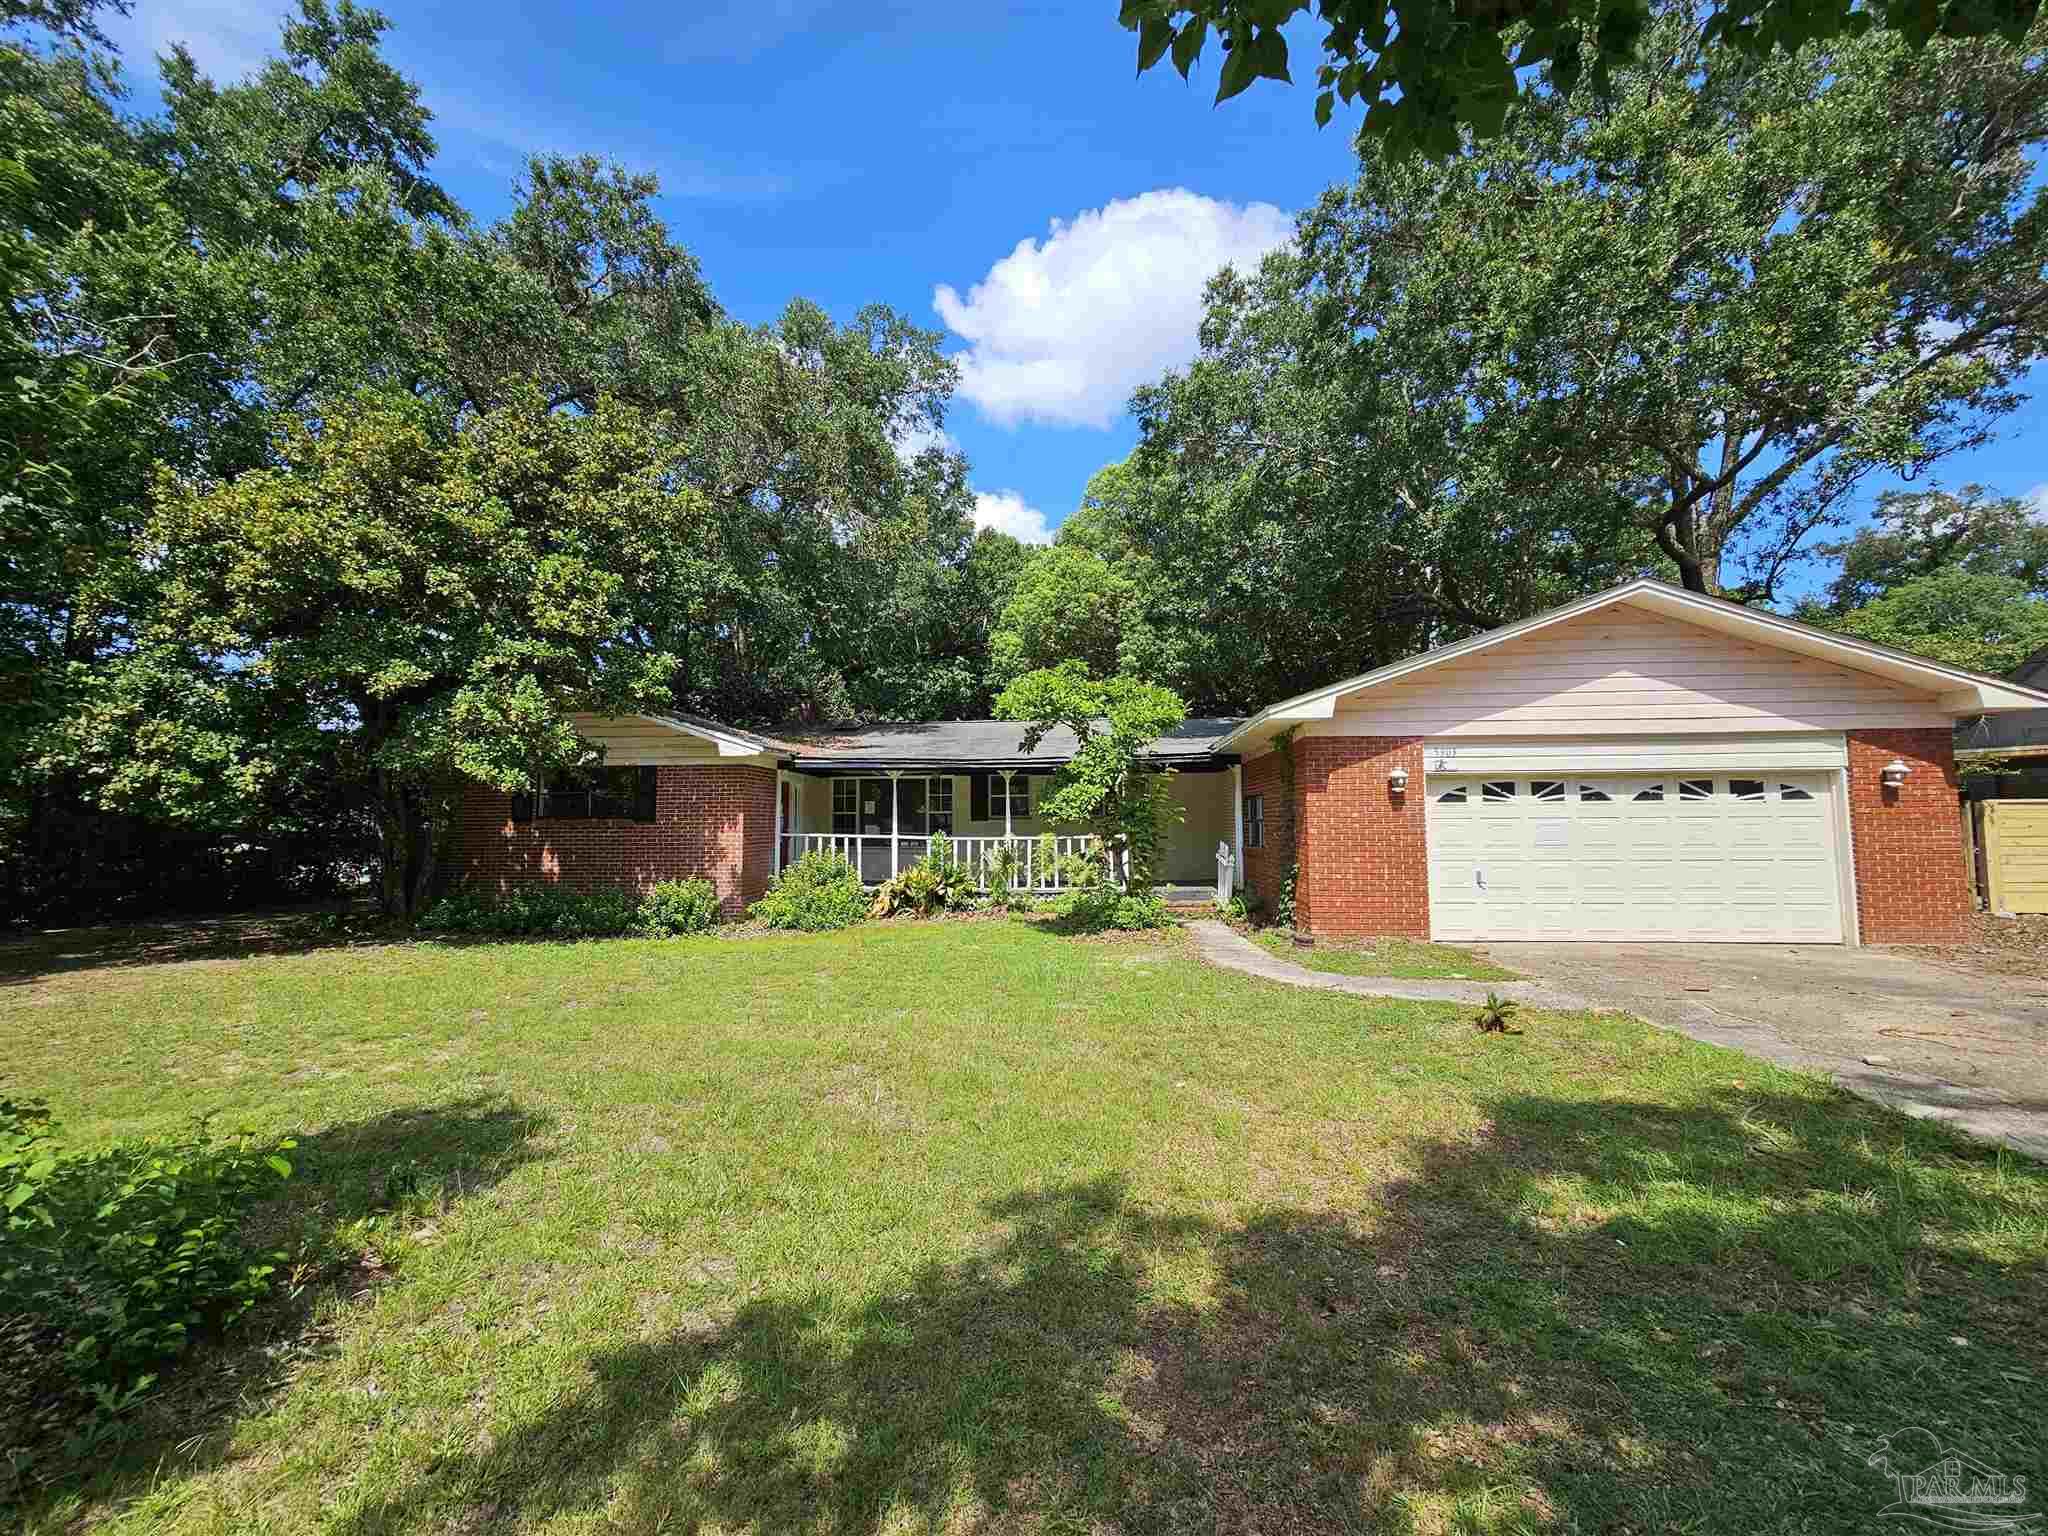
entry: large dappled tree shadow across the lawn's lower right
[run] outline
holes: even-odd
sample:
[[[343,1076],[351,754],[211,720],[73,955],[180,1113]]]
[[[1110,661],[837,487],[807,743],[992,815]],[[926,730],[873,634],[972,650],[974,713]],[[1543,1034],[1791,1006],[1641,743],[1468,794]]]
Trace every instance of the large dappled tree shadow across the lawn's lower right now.
[[[1747,1536],[1866,1530],[1907,1425],[2048,1470],[2048,1180],[1837,1096],[1505,1098],[1358,1210],[987,1217],[891,1294],[598,1352],[338,1528]]]

